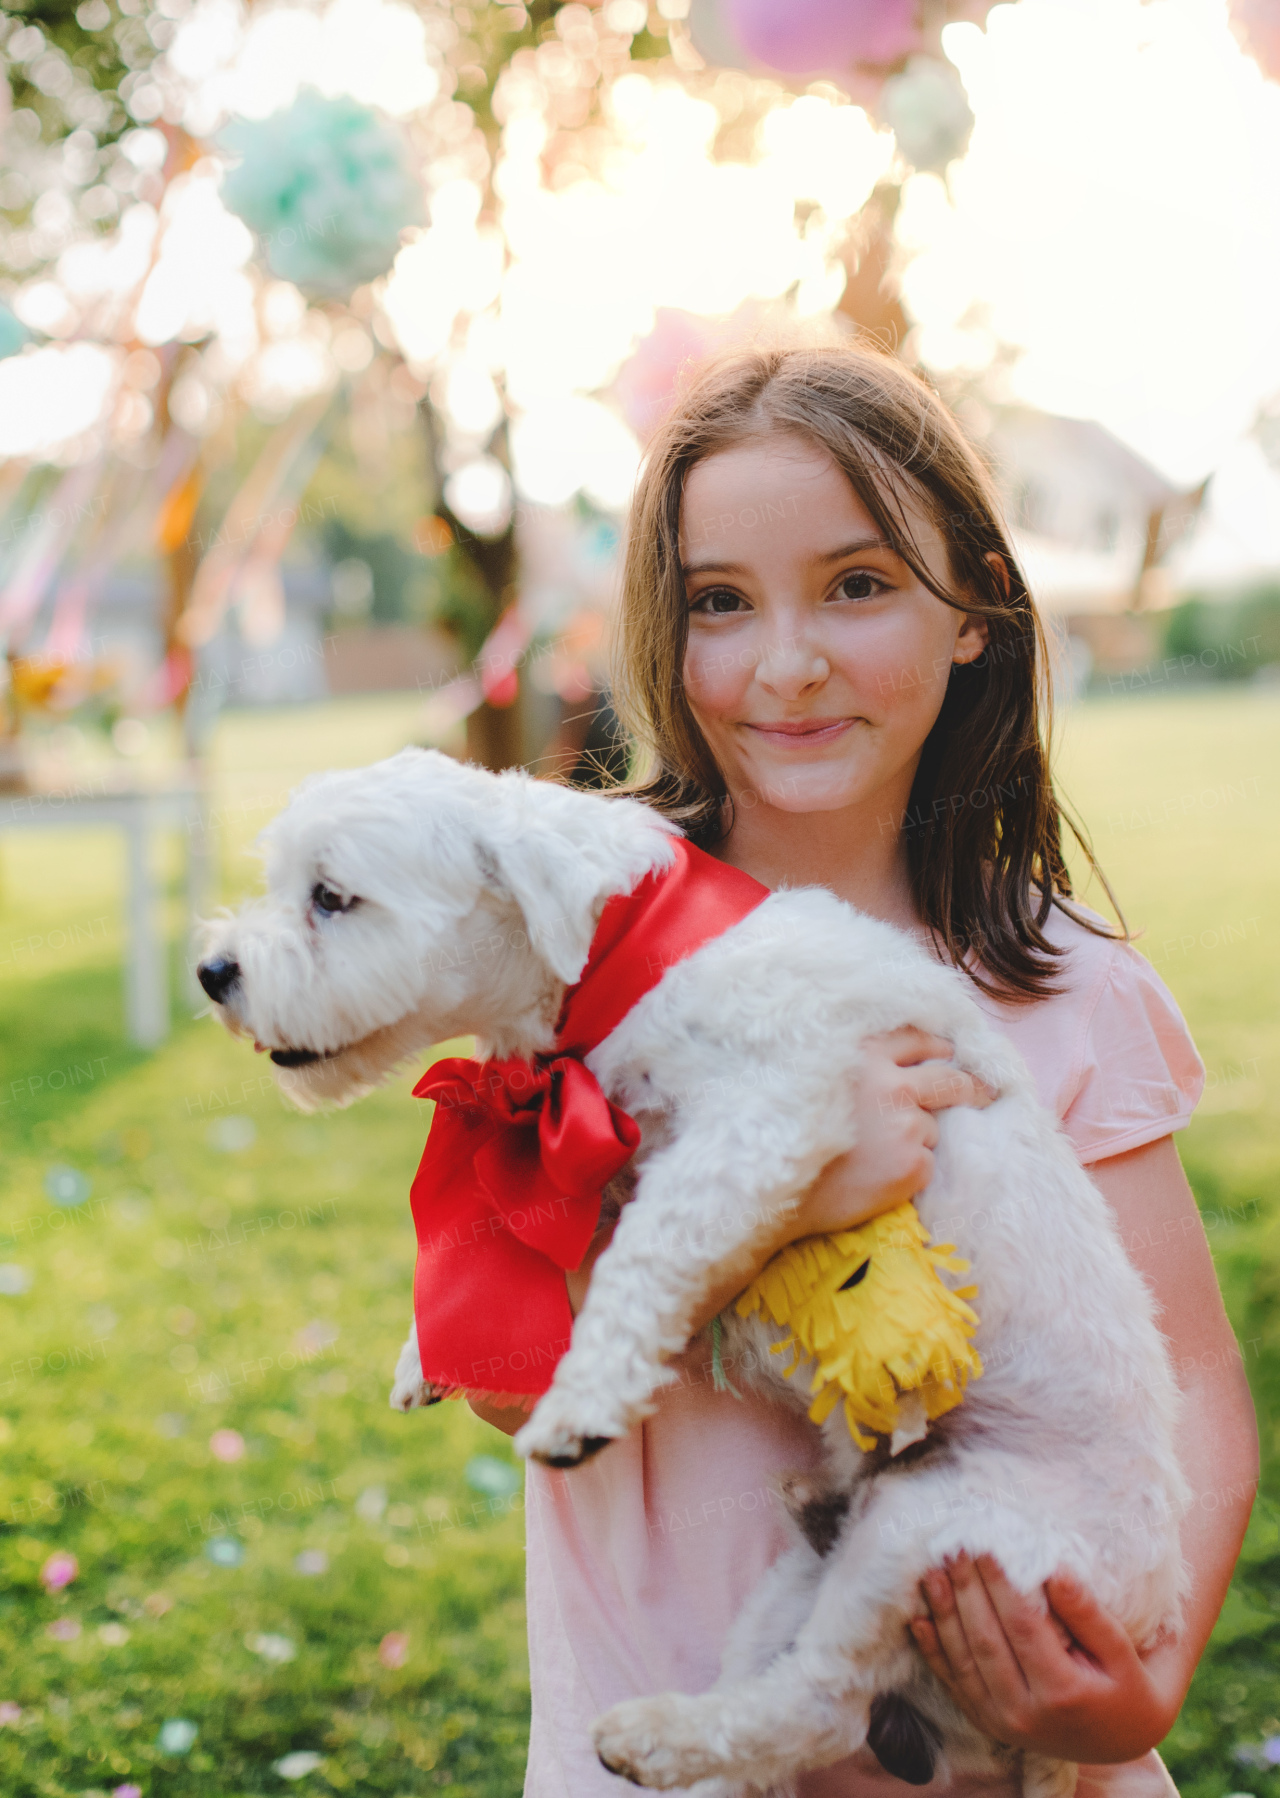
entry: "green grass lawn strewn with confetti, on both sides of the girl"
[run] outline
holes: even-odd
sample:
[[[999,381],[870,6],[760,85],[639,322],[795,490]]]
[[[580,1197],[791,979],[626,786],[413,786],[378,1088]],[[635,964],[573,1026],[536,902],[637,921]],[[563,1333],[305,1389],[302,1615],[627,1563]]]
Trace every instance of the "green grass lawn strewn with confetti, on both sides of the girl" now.
[[[297,777],[399,748],[413,712],[225,717],[223,897],[255,883],[244,849]],[[1208,1063],[1181,1144],[1275,1476],[1280,701],[1091,703],[1066,714],[1061,770]],[[158,1054],[128,1048],[120,863],[106,834],[0,843],[0,1706],[20,1712],[0,1708],[0,1793],[514,1798],[514,1460],[460,1406],[387,1406],[424,1133],[412,1082],[300,1118],[182,1005]],[[83,1192],[68,1169],[79,1205],[58,1203]],[[79,1571],[47,1593],[56,1552]],[[1194,1798],[1280,1798],[1280,1773],[1235,1757],[1273,1735],[1264,1501],[1167,1755]],[[298,1753],[322,1758],[291,1787],[275,1764]]]

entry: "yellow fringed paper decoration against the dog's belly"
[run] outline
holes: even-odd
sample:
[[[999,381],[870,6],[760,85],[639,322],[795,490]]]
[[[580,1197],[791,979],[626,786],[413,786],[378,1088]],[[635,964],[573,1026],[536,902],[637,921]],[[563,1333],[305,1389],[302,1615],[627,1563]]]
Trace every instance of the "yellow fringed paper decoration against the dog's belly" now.
[[[737,1313],[759,1311],[791,1331],[775,1354],[795,1352],[787,1375],[814,1365],[809,1417],[823,1422],[843,1399],[854,1442],[872,1449],[876,1437],[910,1428],[920,1404],[929,1422],[955,1410],[982,1375],[971,1343],[978,1314],[965,1304],[978,1289],[953,1291],[944,1268],[965,1273],[969,1262],[951,1242],[929,1246],[915,1206],[899,1205],[858,1230],[791,1242],[741,1295]],[[919,1393],[906,1415],[904,1393]]]

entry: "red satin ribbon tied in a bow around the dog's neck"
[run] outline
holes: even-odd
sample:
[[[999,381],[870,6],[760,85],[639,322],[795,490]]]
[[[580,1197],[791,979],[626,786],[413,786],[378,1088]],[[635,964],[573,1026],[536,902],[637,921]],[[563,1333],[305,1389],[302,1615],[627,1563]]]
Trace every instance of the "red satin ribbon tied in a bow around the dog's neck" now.
[[[422,1374],[469,1392],[539,1393],[568,1348],[564,1271],[640,1129],[582,1057],[663,973],[768,897],[683,838],[667,870],[609,899],[556,1048],[532,1063],[437,1061],[413,1088],[435,1117],[412,1188]]]

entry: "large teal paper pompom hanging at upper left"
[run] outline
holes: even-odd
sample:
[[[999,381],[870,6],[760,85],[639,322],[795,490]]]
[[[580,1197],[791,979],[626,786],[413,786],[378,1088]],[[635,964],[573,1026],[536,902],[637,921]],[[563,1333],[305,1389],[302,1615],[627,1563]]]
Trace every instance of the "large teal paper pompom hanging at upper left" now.
[[[223,201],[271,273],[304,291],[345,298],[387,273],[401,230],[422,223],[404,133],[345,95],[300,93],[270,119],[227,126],[219,146],[241,156]]]

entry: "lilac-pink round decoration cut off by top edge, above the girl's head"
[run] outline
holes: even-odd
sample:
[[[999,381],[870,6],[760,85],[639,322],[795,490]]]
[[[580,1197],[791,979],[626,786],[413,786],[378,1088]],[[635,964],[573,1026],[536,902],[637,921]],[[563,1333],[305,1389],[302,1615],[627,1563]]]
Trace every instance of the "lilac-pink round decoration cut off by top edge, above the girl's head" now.
[[[748,56],[789,76],[919,49],[915,0],[721,0],[721,14]]]

